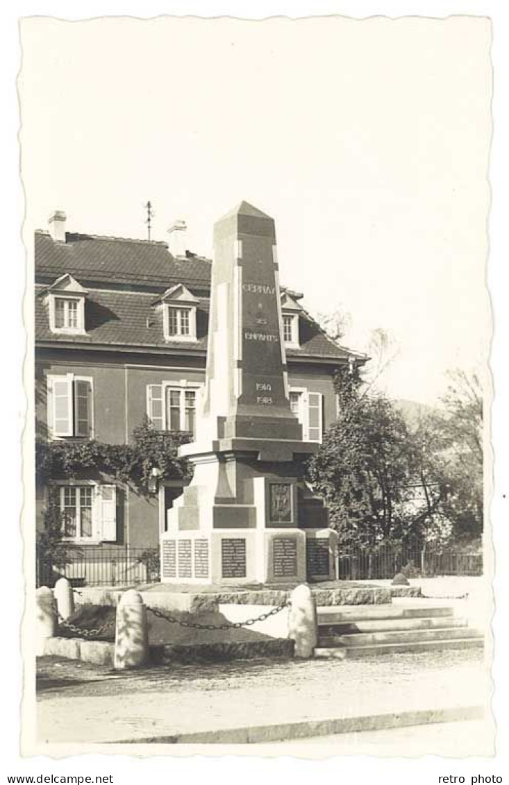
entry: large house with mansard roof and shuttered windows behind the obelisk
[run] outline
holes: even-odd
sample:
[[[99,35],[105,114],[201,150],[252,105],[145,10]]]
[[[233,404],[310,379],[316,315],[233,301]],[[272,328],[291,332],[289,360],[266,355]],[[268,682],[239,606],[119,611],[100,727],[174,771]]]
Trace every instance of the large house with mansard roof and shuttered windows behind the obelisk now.
[[[35,417],[44,442],[129,444],[144,422],[192,434],[207,357],[211,261],[167,243],[68,232],[57,212],[35,232]],[[320,442],[335,420],[335,371],[363,359],[331,341],[282,290],[291,411]],[[146,493],[101,473],[38,476],[38,528],[49,497],[64,540],[81,550],[157,546],[181,477]]]

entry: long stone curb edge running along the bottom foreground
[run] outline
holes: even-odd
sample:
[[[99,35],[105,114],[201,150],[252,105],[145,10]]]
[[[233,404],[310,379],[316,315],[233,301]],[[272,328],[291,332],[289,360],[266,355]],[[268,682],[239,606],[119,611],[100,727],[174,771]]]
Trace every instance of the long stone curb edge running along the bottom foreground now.
[[[449,707],[416,711],[368,714],[364,717],[338,717],[328,720],[284,722],[277,725],[254,725],[247,728],[221,728],[214,731],[149,736],[144,739],[123,739],[115,744],[259,744],[273,741],[333,736],[339,733],[405,728],[440,722],[480,720],[485,716],[482,706]]]

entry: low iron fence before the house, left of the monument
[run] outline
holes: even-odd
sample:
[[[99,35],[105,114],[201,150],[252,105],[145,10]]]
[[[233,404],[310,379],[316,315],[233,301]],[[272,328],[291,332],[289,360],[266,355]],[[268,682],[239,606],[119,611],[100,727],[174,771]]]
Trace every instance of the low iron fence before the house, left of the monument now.
[[[159,580],[159,548],[69,548],[56,563],[37,554],[38,586],[67,578],[73,586],[125,586]]]

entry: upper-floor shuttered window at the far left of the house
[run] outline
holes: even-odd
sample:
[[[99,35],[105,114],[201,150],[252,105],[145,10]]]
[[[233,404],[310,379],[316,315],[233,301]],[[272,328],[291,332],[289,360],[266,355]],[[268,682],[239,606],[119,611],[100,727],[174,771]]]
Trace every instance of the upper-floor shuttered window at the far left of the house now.
[[[48,431],[53,437],[93,437],[93,382],[74,374],[48,377]]]

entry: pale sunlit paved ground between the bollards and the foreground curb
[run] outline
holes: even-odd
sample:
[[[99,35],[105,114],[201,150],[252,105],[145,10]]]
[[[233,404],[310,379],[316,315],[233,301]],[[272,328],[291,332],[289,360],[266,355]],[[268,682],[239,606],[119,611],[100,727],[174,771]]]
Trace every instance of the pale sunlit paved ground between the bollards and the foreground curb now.
[[[244,660],[119,673],[42,658],[38,740],[135,742],[181,733],[481,705],[482,652],[365,660]]]

